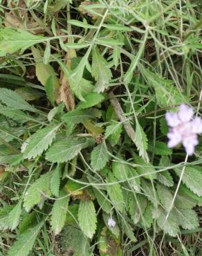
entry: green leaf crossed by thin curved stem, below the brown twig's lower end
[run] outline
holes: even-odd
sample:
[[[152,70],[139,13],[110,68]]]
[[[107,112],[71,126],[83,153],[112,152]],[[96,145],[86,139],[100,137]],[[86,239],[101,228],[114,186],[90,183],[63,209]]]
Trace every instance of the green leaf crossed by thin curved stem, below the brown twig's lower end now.
[[[146,163],[143,158],[133,154],[134,161],[137,164],[136,170],[146,179],[156,179],[156,170],[151,163]]]

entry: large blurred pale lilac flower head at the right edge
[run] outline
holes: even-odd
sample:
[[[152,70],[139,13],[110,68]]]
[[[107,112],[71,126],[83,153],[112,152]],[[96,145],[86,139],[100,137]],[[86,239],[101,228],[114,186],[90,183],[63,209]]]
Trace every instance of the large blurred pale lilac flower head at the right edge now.
[[[194,148],[199,144],[197,134],[202,133],[201,118],[194,117],[194,110],[191,107],[181,104],[177,113],[167,112],[165,119],[169,126],[167,146],[176,147],[182,143],[189,156],[194,154]]]

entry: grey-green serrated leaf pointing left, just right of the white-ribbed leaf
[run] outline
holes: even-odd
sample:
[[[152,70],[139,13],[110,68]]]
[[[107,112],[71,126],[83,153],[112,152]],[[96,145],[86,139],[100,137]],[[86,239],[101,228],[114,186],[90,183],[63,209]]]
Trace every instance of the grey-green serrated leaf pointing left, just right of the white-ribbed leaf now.
[[[84,138],[68,137],[65,140],[53,143],[46,152],[46,160],[53,163],[64,163],[73,159],[80,151],[88,146]]]

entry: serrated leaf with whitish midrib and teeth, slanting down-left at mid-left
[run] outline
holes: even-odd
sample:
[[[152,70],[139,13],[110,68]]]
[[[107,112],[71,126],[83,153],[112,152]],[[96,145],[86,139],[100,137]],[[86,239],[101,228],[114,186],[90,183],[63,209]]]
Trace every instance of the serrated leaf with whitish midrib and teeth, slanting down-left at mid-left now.
[[[52,144],[55,134],[59,129],[60,125],[56,127],[45,127],[41,130],[38,130],[30,138],[28,138],[26,149],[23,152],[24,158],[35,158],[36,156],[42,155],[44,150]]]

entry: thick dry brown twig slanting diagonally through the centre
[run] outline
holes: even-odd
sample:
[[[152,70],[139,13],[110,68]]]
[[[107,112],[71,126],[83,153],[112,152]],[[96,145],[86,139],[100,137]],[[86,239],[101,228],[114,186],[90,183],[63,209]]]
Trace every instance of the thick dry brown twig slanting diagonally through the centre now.
[[[122,107],[120,106],[120,103],[118,102],[117,98],[115,97],[115,95],[112,92],[109,93],[109,97],[110,97],[110,102],[113,106],[114,111],[116,112],[120,121],[123,122],[125,131],[127,132],[129,138],[131,138],[133,143],[135,143],[136,133],[134,131],[134,128],[129,123],[128,118],[126,118],[124,116],[124,111],[122,111]]]

